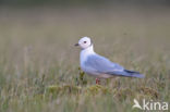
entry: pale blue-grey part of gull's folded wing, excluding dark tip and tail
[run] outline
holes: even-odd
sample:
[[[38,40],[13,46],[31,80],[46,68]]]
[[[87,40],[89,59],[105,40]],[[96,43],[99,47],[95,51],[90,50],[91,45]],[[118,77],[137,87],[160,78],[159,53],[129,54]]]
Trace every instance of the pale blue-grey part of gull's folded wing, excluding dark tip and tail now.
[[[98,73],[112,73],[124,70],[123,66],[113,63],[108,59],[98,54],[89,55],[85,62],[85,65],[88,66],[89,69],[95,70]]]

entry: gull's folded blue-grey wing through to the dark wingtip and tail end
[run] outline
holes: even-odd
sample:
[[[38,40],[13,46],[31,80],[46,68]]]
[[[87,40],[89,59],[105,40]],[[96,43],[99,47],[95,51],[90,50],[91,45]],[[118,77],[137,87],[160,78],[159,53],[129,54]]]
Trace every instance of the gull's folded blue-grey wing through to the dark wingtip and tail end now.
[[[124,70],[123,66],[119,65],[118,63],[113,63],[99,54],[88,55],[87,60],[85,61],[85,66],[97,72],[98,74],[110,74],[139,78],[144,77],[143,74],[134,71]]]

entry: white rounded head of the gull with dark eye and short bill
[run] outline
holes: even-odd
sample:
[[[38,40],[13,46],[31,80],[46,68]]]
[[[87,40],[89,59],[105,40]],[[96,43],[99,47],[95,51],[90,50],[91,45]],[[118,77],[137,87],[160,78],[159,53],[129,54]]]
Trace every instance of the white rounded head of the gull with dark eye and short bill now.
[[[86,49],[93,45],[89,37],[83,37],[78,40],[78,43],[75,43],[75,46],[80,46],[82,49]]]

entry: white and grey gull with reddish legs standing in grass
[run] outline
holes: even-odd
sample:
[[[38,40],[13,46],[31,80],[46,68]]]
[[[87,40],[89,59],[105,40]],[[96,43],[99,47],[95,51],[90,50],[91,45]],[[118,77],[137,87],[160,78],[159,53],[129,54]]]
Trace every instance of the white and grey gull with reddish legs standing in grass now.
[[[111,78],[114,76],[144,78],[139,72],[125,70],[118,63],[111,62],[109,59],[97,54],[94,51],[94,45],[89,37],[83,37],[75,46],[81,47],[80,62],[81,69],[88,75],[96,77],[96,84],[100,78]]]

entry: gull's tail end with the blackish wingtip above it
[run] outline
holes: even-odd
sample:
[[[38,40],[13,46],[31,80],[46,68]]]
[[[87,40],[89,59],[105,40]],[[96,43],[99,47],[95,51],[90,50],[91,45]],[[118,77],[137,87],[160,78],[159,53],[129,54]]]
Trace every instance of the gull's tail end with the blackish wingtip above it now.
[[[137,78],[144,78],[145,77],[145,75],[139,74],[139,72],[130,71],[130,70],[124,70],[124,72],[127,74],[126,76],[130,76],[130,77],[137,77]]]

